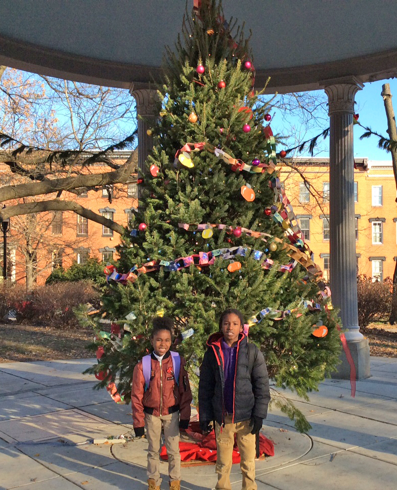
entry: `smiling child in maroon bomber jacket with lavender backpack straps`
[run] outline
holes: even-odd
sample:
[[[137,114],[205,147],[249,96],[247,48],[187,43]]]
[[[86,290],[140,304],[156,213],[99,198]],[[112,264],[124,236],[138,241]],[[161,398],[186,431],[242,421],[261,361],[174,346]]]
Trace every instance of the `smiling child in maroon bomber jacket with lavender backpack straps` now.
[[[190,420],[190,391],[185,359],[180,358],[178,382],[175,380],[174,362],[169,351],[172,343],[172,318],[153,319],[150,358],[150,383],[146,381],[143,360],[134,368],[131,405],[135,435],[142,437],[146,428],[148,449],[148,490],[160,490],[160,440],[161,424],[164,427],[164,442],[168,454],[169,487],[181,488],[181,455],[179,452],[179,429],[187,429]]]

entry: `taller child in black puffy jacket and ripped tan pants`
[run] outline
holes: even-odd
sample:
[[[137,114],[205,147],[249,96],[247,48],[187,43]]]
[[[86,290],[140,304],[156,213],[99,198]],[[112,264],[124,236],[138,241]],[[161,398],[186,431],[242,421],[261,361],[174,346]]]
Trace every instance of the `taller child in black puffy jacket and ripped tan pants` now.
[[[269,376],[263,355],[243,334],[239,310],[225,310],[219,330],[207,341],[199,381],[200,427],[206,432],[215,421],[215,488],[231,490],[230,470],[234,434],[240,452],[243,490],[256,490],[255,434],[268,414]]]

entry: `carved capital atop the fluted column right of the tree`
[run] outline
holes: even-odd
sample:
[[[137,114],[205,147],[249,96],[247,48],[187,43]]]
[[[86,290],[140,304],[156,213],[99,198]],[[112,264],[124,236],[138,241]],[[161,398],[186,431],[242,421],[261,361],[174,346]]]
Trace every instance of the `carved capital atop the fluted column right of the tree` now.
[[[328,114],[349,112],[354,114],[355,95],[364,87],[354,76],[333,78],[321,82],[328,97]]]

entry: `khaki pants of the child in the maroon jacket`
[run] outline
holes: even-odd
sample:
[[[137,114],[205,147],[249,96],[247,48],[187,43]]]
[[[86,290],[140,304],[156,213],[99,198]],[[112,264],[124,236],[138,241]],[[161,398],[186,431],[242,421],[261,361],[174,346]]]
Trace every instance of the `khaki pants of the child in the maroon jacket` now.
[[[181,454],[179,452],[179,412],[155,417],[145,414],[146,438],[149,442],[148,478],[153,478],[155,485],[161,483],[160,478],[160,447],[161,424],[164,427],[164,443],[168,455],[169,479],[181,479]]]

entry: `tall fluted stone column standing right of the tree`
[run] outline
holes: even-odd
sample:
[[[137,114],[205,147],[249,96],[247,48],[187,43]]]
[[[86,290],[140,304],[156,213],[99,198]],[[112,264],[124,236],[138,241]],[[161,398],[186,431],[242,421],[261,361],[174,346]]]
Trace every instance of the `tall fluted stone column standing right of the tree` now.
[[[357,379],[368,378],[368,340],[360,333],[357,308],[357,267],[354,207],[353,115],[356,93],[363,88],[354,77],[327,80],[330,116],[330,276],[332,303],[340,308],[342,326]],[[342,354],[336,378],[349,379]]]

